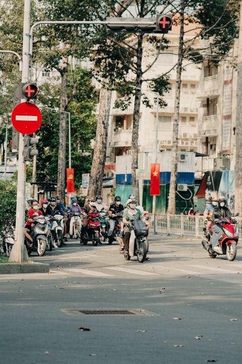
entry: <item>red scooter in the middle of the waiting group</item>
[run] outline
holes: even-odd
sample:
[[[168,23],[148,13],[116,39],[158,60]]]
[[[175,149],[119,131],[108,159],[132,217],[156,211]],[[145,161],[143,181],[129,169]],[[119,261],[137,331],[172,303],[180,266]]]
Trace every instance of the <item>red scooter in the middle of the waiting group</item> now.
[[[98,213],[90,212],[88,214],[88,224],[87,227],[81,236],[80,244],[87,245],[89,241],[92,241],[92,245],[97,246],[100,243],[100,220],[98,217]]]

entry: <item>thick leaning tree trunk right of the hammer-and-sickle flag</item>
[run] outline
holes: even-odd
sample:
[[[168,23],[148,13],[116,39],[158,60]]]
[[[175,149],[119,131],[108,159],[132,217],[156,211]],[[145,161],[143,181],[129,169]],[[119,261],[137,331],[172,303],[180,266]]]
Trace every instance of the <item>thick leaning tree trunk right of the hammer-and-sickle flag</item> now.
[[[95,198],[100,195],[103,186],[104,166],[106,160],[107,132],[109,124],[111,93],[105,88],[100,92],[99,114],[97,119],[97,131],[95,148],[93,152],[88,197]]]

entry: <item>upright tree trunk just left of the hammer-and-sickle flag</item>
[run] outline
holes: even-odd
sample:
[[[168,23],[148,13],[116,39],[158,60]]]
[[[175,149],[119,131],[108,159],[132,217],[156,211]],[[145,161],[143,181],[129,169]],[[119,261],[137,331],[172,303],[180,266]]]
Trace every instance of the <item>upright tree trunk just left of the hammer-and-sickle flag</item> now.
[[[59,153],[58,153],[58,172],[57,172],[57,195],[61,201],[65,200],[65,167],[66,167],[66,119],[67,114],[63,113],[68,105],[67,100],[67,57],[62,59],[61,72],[61,105],[60,105],[60,128],[59,128]]]

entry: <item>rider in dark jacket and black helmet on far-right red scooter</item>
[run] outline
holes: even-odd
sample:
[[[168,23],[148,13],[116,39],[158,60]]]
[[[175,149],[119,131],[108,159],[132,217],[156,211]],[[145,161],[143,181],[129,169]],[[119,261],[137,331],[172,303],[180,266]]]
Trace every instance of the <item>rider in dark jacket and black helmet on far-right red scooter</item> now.
[[[220,196],[218,199],[218,206],[215,206],[212,212],[212,220],[215,222],[213,225],[213,232],[212,232],[212,248],[216,252],[220,251],[219,245],[218,245],[218,239],[221,236],[222,228],[216,224],[216,220],[219,217],[231,217],[232,213],[231,211],[225,206],[227,203],[227,200],[224,196]],[[216,215],[214,215],[216,213]],[[218,214],[218,215],[217,215]]]

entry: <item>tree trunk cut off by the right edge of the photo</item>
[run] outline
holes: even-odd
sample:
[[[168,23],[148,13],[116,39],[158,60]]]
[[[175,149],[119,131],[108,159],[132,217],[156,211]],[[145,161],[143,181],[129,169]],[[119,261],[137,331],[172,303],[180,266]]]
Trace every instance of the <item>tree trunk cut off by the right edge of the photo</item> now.
[[[242,1],[240,3],[240,33],[238,49],[237,109],[235,130],[235,213],[242,212]]]

